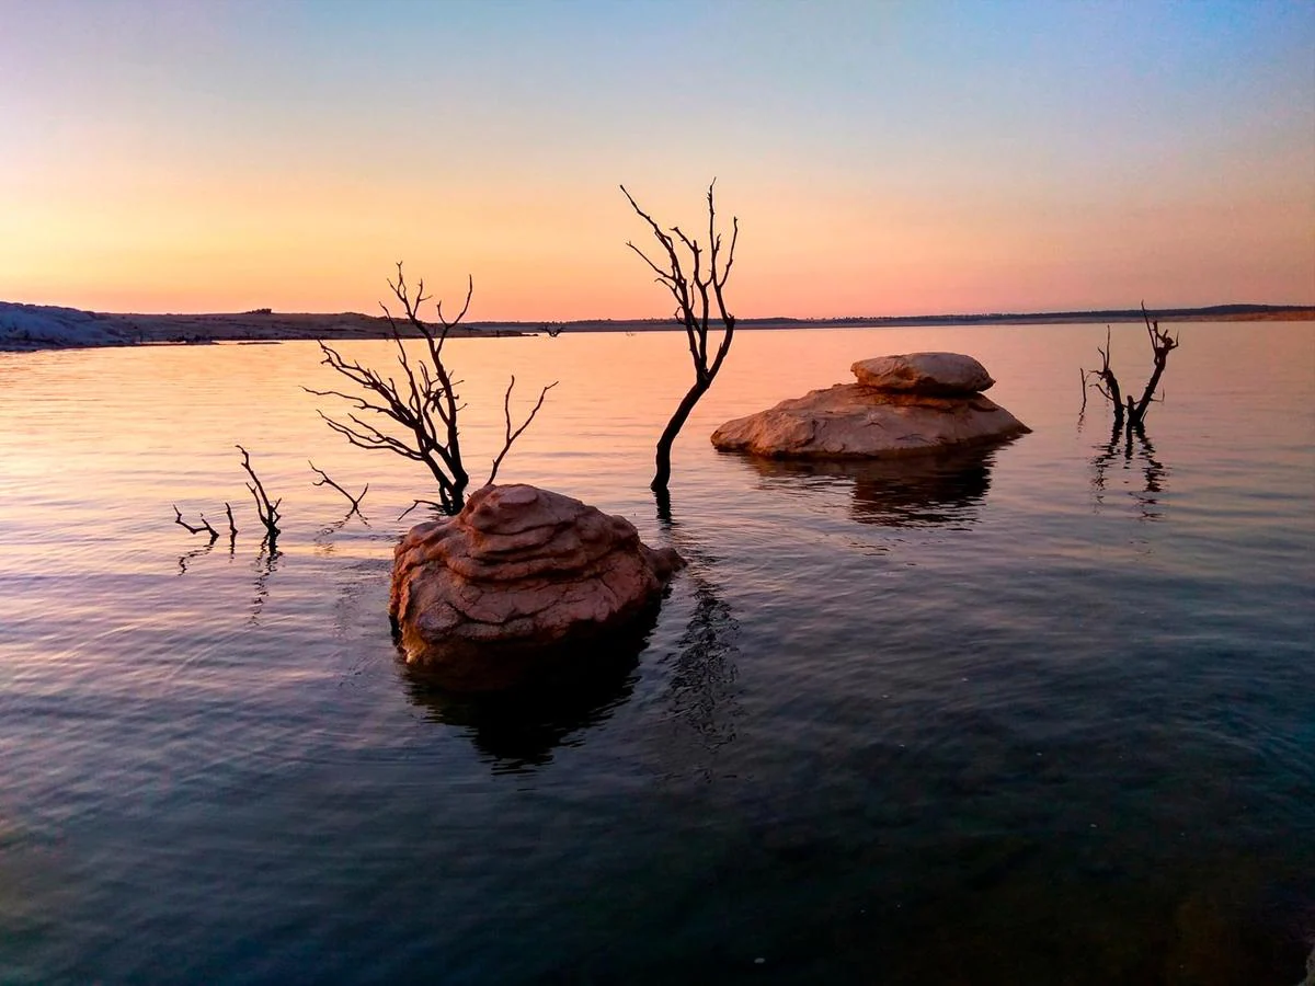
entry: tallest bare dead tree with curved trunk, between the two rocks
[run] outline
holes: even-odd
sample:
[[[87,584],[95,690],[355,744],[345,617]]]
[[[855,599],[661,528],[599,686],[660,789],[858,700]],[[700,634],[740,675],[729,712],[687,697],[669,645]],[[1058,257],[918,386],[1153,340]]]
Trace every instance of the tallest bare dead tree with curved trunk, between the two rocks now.
[[[681,427],[684,427],[685,421],[689,419],[694,405],[707,393],[707,389],[713,385],[713,380],[717,379],[717,373],[726,360],[726,354],[730,352],[731,339],[735,335],[735,316],[726,309],[726,298],[722,292],[726,281],[730,279],[731,266],[735,263],[739,220],[735,217],[731,218],[731,242],[723,259],[722,237],[717,231],[717,206],[713,201],[713,188],[715,184],[714,179],[707,185],[706,266],[705,248],[697,239],[686,237],[680,226],[672,226],[669,231],[663,230],[652,216],[639,208],[639,204],[626,191],[626,187],[621,187],[630,206],[639,218],[648,223],[654,237],[661,246],[665,254],[664,258],[660,258],[663,264],[655,263],[634,243],[627,242],[626,246],[634,250],[648,264],[652,272],[658,275],[658,283],[667,288],[672,298],[675,298],[675,318],[685,330],[685,339],[689,343],[689,358],[694,364],[694,383],[685,392],[684,398],[676,406],[676,411],[671,415],[671,421],[667,422],[667,427],[658,439],[656,468],[650,488],[659,494],[659,498],[667,494],[667,486],[671,481],[671,447],[675,444],[676,436],[680,434]],[[681,259],[682,252],[688,255],[684,262]],[[717,305],[722,339],[715,351],[709,354],[707,334],[711,329],[713,302]]]

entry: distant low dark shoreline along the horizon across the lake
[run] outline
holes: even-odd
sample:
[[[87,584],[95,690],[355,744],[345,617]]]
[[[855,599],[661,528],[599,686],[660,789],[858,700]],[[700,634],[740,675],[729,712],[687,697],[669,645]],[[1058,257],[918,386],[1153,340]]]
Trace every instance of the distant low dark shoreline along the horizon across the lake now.
[[[1152,312],[1166,322],[1315,321],[1315,305],[1214,305]],[[1066,325],[1140,322],[1140,309],[853,318],[742,318],[743,330],[903,329],[970,325]],[[580,319],[572,322],[467,322],[458,337],[518,337],[544,333],[642,333],[675,329],[671,319]],[[406,327],[405,335],[414,335]],[[0,302],[0,351],[210,342],[385,339],[388,319],[354,312],[283,313],[260,309],[217,314],[116,314],[46,305]]]

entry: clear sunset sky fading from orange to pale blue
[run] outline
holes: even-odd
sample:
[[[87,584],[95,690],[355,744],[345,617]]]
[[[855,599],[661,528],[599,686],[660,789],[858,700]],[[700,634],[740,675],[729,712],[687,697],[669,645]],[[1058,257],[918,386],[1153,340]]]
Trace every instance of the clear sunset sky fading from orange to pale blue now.
[[[1315,302],[1311,0],[0,0],[0,300],[651,318]]]

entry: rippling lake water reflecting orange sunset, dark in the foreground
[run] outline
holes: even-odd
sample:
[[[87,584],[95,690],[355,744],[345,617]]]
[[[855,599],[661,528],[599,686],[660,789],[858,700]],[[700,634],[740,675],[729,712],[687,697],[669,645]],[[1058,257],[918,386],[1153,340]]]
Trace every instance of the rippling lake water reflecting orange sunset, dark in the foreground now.
[[[0,355],[0,982],[1286,983],[1315,940],[1315,335],[1187,325],[1148,444],[1103,326],[746,333],[648,448],[676,337],[450,343],[471,461],[692,565],[588,684],[412,680],[421,477],[341,444],[313,346]],[[1115,364],[1145,364],[1136,326]],[[859,358],[972,352],[1035,433],[926,468],[719,456]],[[352,350],[381,360],[383,344]],[[252,534],[234,442],[283,494]],[[489,450],[488,455],[492,455]],[[371,481],[368,526],[305,459]],[[206,551],[172,525],[243,527]]]

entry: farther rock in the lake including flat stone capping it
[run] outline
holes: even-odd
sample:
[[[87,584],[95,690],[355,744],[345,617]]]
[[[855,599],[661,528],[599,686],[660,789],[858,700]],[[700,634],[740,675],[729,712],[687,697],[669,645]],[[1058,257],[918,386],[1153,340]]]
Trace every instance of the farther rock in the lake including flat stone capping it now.
[[[963,448],[1031,431],[981,392],[981,363],[956,352],[861,360],[836,384],[736,418],[713,444],[773,458],[865,459]]]

